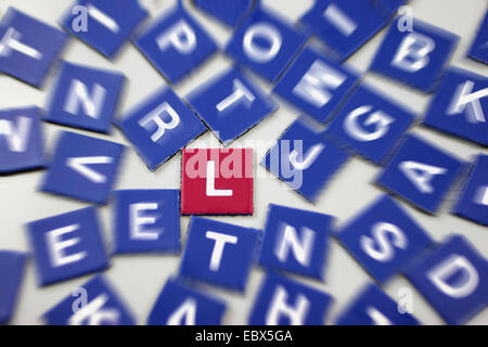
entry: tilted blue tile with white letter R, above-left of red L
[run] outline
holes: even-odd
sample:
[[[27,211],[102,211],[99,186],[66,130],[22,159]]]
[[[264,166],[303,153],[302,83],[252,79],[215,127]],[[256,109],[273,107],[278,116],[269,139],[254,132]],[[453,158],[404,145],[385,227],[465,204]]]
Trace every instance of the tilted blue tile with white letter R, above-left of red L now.
[[[198,117],[168,87],[129,111],[119,127],[151,171],[206,131]]]

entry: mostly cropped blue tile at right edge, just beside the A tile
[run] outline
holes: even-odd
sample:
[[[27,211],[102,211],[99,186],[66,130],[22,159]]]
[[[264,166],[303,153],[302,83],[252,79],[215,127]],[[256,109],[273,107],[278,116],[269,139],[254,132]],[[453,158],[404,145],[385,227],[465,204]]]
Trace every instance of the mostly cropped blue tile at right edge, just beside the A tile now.
[[[483,226],[488,226],[488,155],[479,154],[471,170],[454,214]]]

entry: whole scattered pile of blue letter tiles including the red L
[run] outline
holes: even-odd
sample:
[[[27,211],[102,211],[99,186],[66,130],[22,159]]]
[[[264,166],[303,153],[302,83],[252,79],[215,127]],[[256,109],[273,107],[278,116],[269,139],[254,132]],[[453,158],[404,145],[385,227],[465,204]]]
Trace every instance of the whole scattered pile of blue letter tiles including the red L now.
[[[118,0],[117,5],[79,0],[60,14],[61,26],[70,35],[9,8],[0,21],[0,72],[41,88],[53,64],[60,68],[46,110],[0,111],[0,172],[42,168],[42,192],[95,205],[110,201],[115,254],[181,253],[179,271],[160,291],[147,324],[219,324],[224,300],[194,283],[244,292],[254,266],[267,274],[249,324],[323,324],[333,297],[286,273],[322,280],[331,237],[376,283],[357,293],[334,317],[336,324],[419,324],[380,288],[397,274],[403,274],[447,323],[464,323],[488,304],[488,264],[476,249],[487,245],[473,245],[461,234],[434,242],[397,198],[434,215],[457,187],[451,213],[488,223],[488,156],[483,154],[488,144],[488,79],[449,66],[459,37],[414,17],[409,23],[397,16],[403,2],[317,1],[298,23],[288,23],[253,0],[195,0],[191,5],[235,28],[223,49],[235,65],[184,98],[168,86],[219,47],[181,2],[149,20],[136,0]],[[87,21],[89,30],[84,29]],[[433,93],[421,123],[478,144],[479,155],[472,163],[409,133],[416,115],[362,82],[361,75],[344,63],[385,27],[370,70]],[[322,46],[310,43],[311,37]],[[124,75],[60,61],[70,39],[82,40],[108,60],[130,41],[168,86],[162,80],[164,88],[116,117]],[[487,64],[487,41],[485,15],[467,55]],[[280,100],[305,115],[259,158],[260,165],[313,204],[332,176],[358,155],[380,168],[374,183],[387,193],[341,230],[335,230],[330,215],[274,204],[268,207],[262,230],[201,217],[254,213],[253,150],[226,147],[278,108],[249,78],[253,74],[272,83]],[[182,151],[181,187],[113,191],[129,149],[60,130],[47,158],[42,121],[103,133],[115,126],[151,171]],[[314,123],[328,126],[319,130]],[[219,139],[220,149],[185,149],[207,130]],[[299,182],[294,172],[300,174]],[[181,215],[192,215],[182,249]],[[0,252],[3,323],[13,316],[27,257],[33,258],[40,286],[102,272],[110,264],[95,206],[47,216],[25,229],[28,255]],[[44,313],[44,322],[136,323],[130,305],[103,274],[81,287],[88,293],[86,303],[75,307],[77,297],[66,293]]]

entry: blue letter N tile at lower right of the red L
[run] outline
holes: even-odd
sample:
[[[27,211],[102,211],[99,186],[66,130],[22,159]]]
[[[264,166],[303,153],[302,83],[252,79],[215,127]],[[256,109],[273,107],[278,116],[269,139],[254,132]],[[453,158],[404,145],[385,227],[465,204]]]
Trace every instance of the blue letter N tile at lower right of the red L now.
[[[333,217],[270,204],[258,262],[322,279]]]

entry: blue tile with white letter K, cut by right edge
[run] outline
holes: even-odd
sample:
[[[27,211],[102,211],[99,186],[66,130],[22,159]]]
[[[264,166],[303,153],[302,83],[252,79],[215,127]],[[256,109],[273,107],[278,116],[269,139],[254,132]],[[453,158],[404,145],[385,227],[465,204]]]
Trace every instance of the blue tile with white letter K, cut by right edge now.
[[[451,67],[432,99],[423,124],[488,145],[488,78]]]

